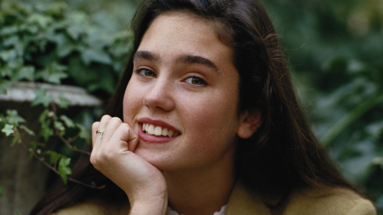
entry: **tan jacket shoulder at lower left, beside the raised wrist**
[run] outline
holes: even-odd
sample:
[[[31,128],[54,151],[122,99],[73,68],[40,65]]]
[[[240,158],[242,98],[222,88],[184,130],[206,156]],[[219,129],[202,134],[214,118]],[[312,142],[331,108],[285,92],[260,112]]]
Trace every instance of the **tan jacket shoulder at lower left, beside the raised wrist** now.
[[[129,209],[129,204],[113,204],[99,199],[91,199],[58,210],[52,215],[126,215],[129,214]]]

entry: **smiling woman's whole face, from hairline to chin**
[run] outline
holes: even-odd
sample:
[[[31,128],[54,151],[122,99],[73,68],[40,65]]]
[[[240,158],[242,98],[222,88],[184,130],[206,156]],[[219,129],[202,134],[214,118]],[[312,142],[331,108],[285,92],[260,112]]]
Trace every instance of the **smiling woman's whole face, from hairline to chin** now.
[[[164,171],[234,162],[238,84],[231,49],[211,23],[181,12],[158,16],[124,95],[124,122],[139,135],[135,153]]]

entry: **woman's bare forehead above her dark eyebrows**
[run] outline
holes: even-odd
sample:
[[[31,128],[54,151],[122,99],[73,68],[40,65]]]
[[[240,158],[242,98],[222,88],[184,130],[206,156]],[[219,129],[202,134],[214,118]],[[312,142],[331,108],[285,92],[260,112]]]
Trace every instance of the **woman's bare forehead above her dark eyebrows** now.
[[[188,12],[159,15],[146,30],[137,51],[156,52],[162,57],[192,54],[214,61],[233,61],[231,48],[219,40],[213,22]]]

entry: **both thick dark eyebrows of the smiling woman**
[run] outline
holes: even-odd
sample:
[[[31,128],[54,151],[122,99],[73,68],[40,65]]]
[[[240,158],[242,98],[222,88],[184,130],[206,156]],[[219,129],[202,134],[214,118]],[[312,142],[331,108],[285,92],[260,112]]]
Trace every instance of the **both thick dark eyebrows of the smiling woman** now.
[[[149,51],[137,51],[134,56],[133,60],[137,59],[146,59],[146,60],[152,60],[152,61],[161,61],[161,57],[158,54],[154,54]],[[201,64],[204,66],[207,66],[214,71],[219,71],[218,67],[216,64],[214,64],[211,60],[199,56],[199,55],[192,55],[192,54],[181,54],[179,55],[175,60],[175,63],[195,63],[195,64]]]

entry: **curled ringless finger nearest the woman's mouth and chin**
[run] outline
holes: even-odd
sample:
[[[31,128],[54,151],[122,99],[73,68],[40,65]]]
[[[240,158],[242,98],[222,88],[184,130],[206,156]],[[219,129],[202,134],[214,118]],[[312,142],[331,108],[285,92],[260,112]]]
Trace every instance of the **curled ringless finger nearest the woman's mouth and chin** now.
[[[122,123],[115,130],[109,142],[119,143],[120,147],[126,147],[126,151],[134,152],[138,143],[138,135],[126,123]]]

